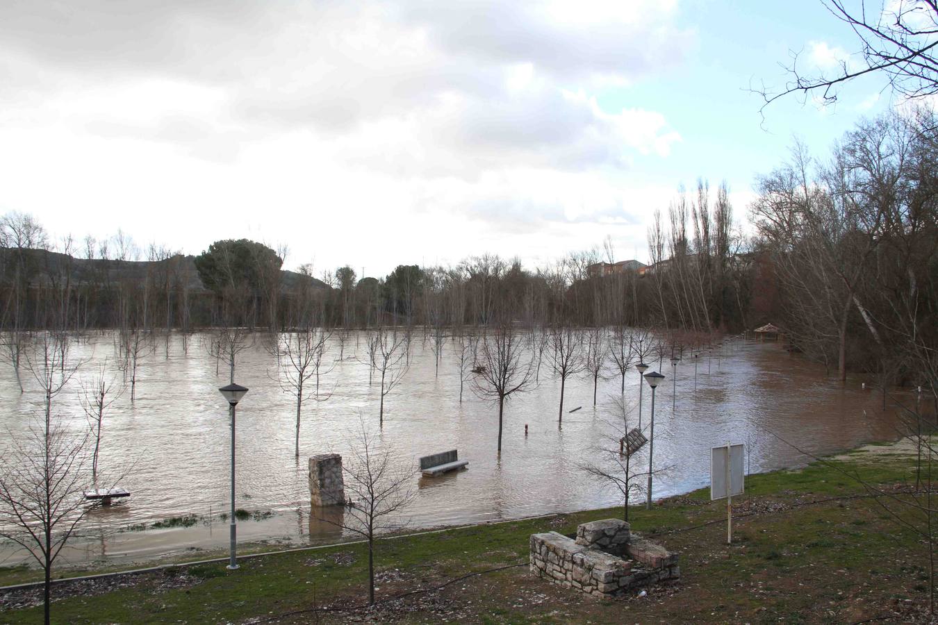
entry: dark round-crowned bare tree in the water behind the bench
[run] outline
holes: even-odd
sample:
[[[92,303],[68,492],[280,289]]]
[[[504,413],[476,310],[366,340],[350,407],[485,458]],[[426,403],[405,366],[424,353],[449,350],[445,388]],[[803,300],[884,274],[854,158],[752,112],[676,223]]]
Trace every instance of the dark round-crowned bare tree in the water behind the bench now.
[[[473,367],[473,390],[482,399],[498,403],[498,453],[502,453],[505,401],[513,394],[528,391],[534,382],[534,363],[522,362],[522,337],[510,323],[499,324],[494,332],[478,341]]]

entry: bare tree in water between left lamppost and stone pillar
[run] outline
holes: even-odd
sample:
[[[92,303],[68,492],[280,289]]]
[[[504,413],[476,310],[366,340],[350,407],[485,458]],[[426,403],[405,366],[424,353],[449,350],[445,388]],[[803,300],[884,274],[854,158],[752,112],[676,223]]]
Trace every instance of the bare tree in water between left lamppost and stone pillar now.
[[[326,401],[332,396],[331,390],[325,394],[320,392],[321,377],[335,367],[335,363],[323,362],[331,335],[331,332],[321,328],[307,328],[280,335],[275,348],[280,369],[280,388],[286,393],[294,394],[296,398],[296,458],[299,458],[299,427],[303,403],[309,399]]]

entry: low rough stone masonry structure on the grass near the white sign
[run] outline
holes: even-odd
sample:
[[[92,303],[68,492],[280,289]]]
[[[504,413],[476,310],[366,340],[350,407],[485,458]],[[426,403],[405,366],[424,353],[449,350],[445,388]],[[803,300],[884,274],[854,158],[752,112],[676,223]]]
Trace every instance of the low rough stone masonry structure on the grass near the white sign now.
[[[555,531],[532,534],[530,567],[554,584],[606,598],[681,576],[676,554],[617,519],[583,523],[575,541]]]

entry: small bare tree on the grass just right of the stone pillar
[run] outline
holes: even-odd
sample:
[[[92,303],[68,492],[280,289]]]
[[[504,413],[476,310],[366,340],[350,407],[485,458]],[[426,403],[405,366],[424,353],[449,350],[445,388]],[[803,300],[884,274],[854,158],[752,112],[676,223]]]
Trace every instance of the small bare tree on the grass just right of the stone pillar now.
[[[406,527],[403,510],[414,500],[413,464],[396,465],[392,450],[379,449],[376,437],[359,418],[351,454],[343,458],[342,475],[346,508],[337,520],[321,520],[347,529],[368,541],[368,603],[374,603],[375,537]]]

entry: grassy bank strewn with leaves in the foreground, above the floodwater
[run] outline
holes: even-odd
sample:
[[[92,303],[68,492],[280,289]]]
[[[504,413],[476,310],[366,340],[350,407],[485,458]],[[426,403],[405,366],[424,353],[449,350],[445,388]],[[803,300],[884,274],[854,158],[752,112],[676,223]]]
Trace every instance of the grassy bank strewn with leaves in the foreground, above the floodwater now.
[[[706,490],[630,511],[633,529],[681,557],[681,580],[647,596],[603,602],[553,587],[527,571],[528,537],[572,531],[598,510],[450,529],[383,541],[376,607],[363,607],[362,545],[63,584],[60,622],[928,622],[928,551],[908,507],[916,456],[907,446],[869,446],[805,469],[748,478],[734,499],[734,544],[725,544],[725,506]],[[858,481],[859,480],[859,481]],[[861,484],[888,493],[877,502]],[[24,581],[0,570],[0,584]],[[3,596],[7,605],[38,593]],[[0,621],[41,619],[41,606],[7,608]]]

